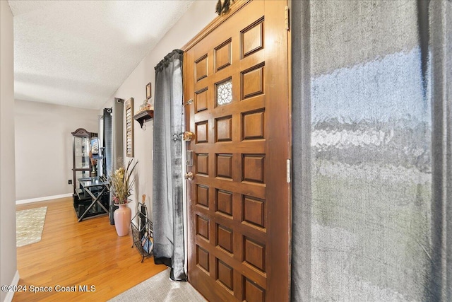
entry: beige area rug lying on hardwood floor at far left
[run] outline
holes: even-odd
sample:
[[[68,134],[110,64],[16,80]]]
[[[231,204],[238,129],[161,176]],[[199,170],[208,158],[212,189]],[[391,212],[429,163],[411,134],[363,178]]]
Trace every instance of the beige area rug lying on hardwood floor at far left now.
[[[16,211],[16,247],[41,241],[47,207]]]

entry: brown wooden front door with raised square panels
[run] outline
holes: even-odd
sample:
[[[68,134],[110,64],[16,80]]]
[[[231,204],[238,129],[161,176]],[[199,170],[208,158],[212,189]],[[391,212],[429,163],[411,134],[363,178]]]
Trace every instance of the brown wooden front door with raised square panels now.
[[[236,2],[184,57],[189,281],[209,301],[288,301],[287,4]]]

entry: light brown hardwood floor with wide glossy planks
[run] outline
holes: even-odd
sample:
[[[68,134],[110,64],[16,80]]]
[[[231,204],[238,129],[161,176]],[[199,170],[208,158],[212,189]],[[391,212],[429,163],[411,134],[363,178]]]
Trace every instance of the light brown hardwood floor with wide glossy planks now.
[[[47,206],[42,239],[17,248],[19,285],[13,301],[107,301],[166,269],[153,258],[141,263],[132,238],[118,237],[107,216],[77,222],[72,198],[16,206],[16,210]],[[95,286],[95,291],[57,292],[57,286]],[[30,292],[49,286],[52,292]]]

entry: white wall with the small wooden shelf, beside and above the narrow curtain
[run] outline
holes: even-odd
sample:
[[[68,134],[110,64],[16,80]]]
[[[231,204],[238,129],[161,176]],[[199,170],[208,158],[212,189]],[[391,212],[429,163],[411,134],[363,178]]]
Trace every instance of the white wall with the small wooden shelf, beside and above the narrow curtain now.
[[[112,100],[114,98],[122,98],[124,100],[134,98],[133,110],[136,112],[140,105],[143,104],[143,100],[145,100],[145,86],[149,82],[152,83],[152,95],[154,97],[154,66],[172,50],[183,47],[186,42],[189,42],[189,40],[206,27],[215,16],[215,1],[194,1],[184,16],[168,31],[150,54],[141,61],[104,107],[112,107]],[[152,211],[153,122],[146,122],[145,125],[146,129],[142,130],[138,122],[134,124],[134,158],[139,163],[137,165],[138,178],[136,180],[136,188],[133,192],[135,196],[131,198],[141,202],[141,196],[146,194],[148,209]],[[126,158],[126,161],[128,160],[129,158]],[[131,207],[133,209],[135,206]]]

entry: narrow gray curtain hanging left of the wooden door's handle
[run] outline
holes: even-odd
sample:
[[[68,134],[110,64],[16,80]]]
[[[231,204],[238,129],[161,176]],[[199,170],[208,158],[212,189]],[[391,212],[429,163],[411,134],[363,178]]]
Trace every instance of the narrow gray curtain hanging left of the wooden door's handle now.
[[[153,225],[154,260],[186,281],[182,203],[182,50],[155,66]]]

